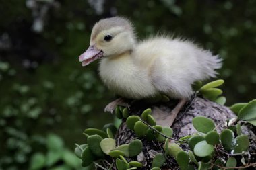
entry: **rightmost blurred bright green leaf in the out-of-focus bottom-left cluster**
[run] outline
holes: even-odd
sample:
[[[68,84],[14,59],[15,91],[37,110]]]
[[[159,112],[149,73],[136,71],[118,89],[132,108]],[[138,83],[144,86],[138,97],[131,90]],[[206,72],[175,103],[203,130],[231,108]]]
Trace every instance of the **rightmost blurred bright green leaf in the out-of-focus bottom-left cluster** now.
[[[69,165],[73,168],[80,167],[81,163],[81,161],[77,157],[75,157],[75,155],[71,151],[67,149],[65,149],[63,152],[63,161],[66,165]]]

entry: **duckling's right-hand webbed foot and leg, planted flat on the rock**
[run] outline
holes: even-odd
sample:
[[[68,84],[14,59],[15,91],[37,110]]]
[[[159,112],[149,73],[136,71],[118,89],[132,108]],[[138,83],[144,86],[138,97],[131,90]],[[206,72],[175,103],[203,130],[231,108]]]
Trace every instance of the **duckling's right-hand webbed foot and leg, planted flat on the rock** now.
[[[155,107],[152,111],[152,116],[155,118],[156,124],[159,124],[161,126],[172,126],[175,118],[177,117],[181,108],[183,108],[186,102],[187,99],[181,99],[179,103],[175,106],[175,108],[172,110],[172,112],[166,112],[160,110],[160,108]]]

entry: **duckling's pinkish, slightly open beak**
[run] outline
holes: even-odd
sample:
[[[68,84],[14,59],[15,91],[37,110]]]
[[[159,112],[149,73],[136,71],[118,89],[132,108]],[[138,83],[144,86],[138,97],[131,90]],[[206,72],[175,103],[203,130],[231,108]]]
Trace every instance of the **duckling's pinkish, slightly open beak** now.
[[[89,46],[89,48],[79,56],[79,62],[82,62],[82,66],[89,65],[94,60],[102,58],[102,50],[98,50],[95,46]]]

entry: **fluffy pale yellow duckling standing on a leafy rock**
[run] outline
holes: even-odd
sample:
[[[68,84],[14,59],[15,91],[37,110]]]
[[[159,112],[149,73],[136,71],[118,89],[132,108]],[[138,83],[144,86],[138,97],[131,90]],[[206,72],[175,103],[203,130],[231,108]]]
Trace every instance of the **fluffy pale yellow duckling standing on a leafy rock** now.
[[[133,24],[124,17],[101,19],[92,28],[90,46],[79,56],[82,66],[100,59],[99,74],[108,87],[126,99],[165,94],[180,99],[172,114],[193,94],[191,85],[216,76],[222,60],[189,40],[154,36],[137,41]],[[117,99],[106,107],[113,110]]]

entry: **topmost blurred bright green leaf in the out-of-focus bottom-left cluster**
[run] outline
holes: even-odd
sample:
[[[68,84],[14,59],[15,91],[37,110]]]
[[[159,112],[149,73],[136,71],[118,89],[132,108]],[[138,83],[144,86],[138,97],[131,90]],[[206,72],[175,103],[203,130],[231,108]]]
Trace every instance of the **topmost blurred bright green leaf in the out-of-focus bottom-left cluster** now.
[[[64,143],[59,136],[55,134],[49,134],[46,138],[46,146],[51,151],[59,151],[63,148]]]

